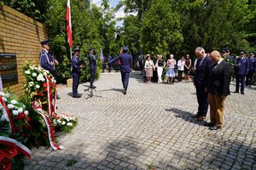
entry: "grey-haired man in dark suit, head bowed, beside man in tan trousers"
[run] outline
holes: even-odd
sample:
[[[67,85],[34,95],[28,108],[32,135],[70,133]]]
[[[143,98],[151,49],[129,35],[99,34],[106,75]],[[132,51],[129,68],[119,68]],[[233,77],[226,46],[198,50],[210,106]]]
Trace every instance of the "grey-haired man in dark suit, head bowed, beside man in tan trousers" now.
[[[208,111],[207,88],[212,59],[207,56],[205,49],[201,47],[195,48],[195,54],[198,57],[195,65],[196,71],[194,77],[198,111],[194,117],[197,117],[198,121],[203,121],[205,120]]]

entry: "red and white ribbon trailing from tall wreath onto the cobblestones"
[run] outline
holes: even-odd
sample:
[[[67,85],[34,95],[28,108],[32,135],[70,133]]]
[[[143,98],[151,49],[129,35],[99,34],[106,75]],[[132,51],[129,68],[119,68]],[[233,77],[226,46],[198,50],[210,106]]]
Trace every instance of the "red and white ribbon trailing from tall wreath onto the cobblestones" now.
[[[51,125],[51,122],[49,120],[49,116],[44,114],[44,111],[42,110],[42,107],[38,104],[38,102],[34,101],[32,103],[32,105],[33,105],[33,108],[35,109],[35,111],[37,111],[38,114],[40,116],[42,116],[43,119],[44,119],[44,122],[45,122],[46,127],[47,127],[47,131],[48,131],[49,144],[52,147],[52,149],[53,150],[63,149],[63,146],[58,145],[58,144],[55,143],[54,129],[53,129],[53,127]]]

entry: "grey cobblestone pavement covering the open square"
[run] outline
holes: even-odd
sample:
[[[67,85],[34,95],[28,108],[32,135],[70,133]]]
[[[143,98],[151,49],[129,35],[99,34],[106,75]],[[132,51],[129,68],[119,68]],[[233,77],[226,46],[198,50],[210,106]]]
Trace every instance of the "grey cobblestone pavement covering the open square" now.
[[[133,72],[126,95],[119,73],[102,74],[95,85],[89,99],[88,82],[79,85],[80,99],[61,89],[58,112],[78,116],[79,124],[58,139],[64,150],[34,149],[25,169],[256,169],[255,89],[231,94],[224,127],[211,131],[191,117],[191,82],[146,84]]]

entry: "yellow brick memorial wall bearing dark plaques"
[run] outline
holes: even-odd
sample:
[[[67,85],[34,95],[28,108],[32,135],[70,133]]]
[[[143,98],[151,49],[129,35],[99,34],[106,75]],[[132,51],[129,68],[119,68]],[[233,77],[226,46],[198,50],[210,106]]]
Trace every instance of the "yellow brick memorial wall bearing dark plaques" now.
[[[46,27],[8,6],[0,7],[0,75],[3,88],[20,96],[25,77],[26,61],[39,65],[42,40],[47,39]]]

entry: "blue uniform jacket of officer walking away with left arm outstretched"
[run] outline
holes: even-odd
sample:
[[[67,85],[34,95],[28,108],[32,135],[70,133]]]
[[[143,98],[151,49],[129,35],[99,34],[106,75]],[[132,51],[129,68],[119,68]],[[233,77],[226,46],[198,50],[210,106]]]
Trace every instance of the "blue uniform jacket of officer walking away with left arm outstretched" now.
[[[127,54],[127,53],[119,54],[119,57],[112,59],[108,63],[111,63],[116,60],[119,60],[119,62],[120,62],[120,71],[121,72],[131,72],[132,57],[130,54]]]

